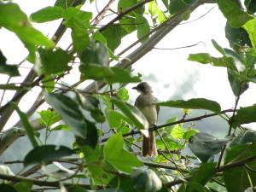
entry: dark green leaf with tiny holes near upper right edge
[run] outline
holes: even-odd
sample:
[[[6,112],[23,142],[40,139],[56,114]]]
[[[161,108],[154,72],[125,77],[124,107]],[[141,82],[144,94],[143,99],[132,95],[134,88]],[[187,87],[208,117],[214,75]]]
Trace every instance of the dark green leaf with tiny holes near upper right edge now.
[[[227,22],[225,26],[225,36],[230,42],[230,47],[233,49],[240,49],[245,45],[252,47],[248,33],[242,27],[233,28],[230,26],[229,22]]]

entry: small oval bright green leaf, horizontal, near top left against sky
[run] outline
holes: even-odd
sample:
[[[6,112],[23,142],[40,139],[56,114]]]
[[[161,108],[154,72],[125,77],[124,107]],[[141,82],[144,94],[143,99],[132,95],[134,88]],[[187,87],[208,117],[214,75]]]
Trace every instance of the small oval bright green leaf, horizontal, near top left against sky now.
[[[63,15],[63,11],[65,11],[65,9],[62,9],[61,7],[46,7],[32,13],[30,17],[35,22],[44,23],[46,21],[60,19]]]

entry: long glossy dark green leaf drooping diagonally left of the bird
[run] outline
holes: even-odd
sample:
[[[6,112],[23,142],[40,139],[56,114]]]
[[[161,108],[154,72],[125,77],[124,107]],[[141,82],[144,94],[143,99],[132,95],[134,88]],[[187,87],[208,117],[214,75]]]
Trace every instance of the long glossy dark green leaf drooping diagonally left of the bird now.
[[[67,96],[53,93],[46,94],[45,99],[55,112],[61,115],[76,136],[86,139],[89,126],[76,102]]]

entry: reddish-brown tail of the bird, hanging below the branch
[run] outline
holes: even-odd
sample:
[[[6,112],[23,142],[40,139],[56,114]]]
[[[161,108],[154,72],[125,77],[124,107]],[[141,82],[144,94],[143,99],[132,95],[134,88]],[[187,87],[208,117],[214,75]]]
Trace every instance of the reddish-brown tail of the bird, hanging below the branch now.
[[[154,131],[149,131],[149,136],[143,136],[143,156],[156,156],[157,148],[155,143]]]

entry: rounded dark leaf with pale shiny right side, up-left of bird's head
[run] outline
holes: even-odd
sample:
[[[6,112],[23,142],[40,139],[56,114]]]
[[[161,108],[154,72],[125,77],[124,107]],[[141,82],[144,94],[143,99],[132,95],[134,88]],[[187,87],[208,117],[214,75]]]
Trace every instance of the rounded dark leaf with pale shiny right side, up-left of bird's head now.
[[[83,64],[98,64],[102,66],[109,65],[108,49],[100,42],[90,42],[79,55]]]

